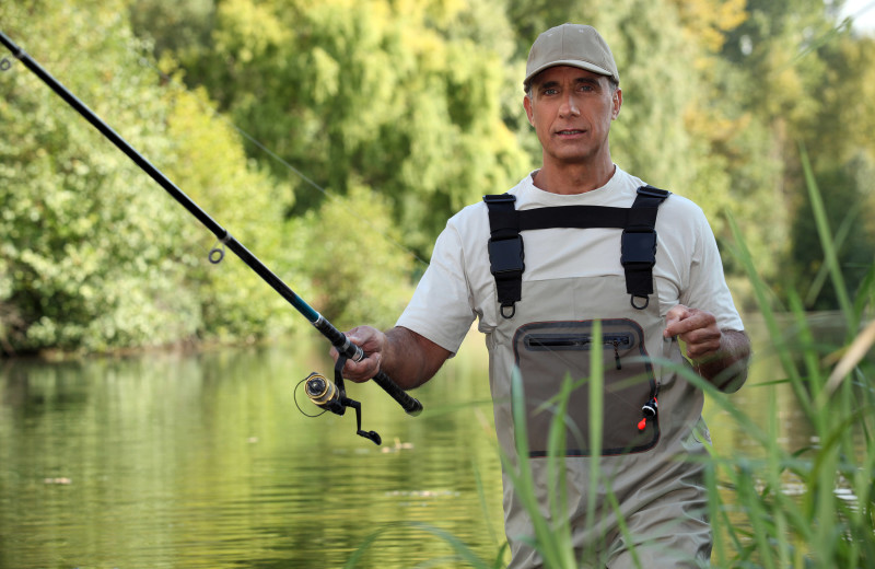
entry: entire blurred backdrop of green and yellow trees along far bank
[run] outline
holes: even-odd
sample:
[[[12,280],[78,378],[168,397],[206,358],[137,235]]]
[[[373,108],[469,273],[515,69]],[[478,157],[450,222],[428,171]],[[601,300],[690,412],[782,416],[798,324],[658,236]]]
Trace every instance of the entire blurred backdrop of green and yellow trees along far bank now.
[[[446,219],[537,166],[521,79],[537,34],[565,21],[598,27],[619,65],[615,161],[696,200],[720,239],[732,213],[779,293],[802,283],[807,309],[836,307],[801,144],[849,287],[875,258],[875,39],[840,8],[21,0],[0,28],[345,328],[390,325]],[[22,66],[0,90],[3,353],[308,327],[233,255],[207,263],[209,232]]]

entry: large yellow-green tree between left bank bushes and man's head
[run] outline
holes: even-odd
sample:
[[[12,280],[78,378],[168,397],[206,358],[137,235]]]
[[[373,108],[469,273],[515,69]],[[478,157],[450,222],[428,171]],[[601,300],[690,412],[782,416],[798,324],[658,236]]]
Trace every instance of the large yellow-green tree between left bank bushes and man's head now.
[[[405,244],[428,252],[450,214],[527,167],[503,121],[512,46],[501,13],[425,0],[229,0],[210,44],[179,57],[189,84],[318,186],[387,196]],[[296,185],[295,212],[323,199],[284,164],[271,167]]]

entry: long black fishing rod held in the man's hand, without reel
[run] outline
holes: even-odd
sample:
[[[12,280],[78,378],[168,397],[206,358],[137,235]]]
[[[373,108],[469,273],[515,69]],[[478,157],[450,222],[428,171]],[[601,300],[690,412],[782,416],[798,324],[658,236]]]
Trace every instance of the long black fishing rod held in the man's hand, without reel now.
[[[118,133],[116,133],[116,131],[113,130],[106,123],[104,123],[96,114],[94,114],[91,108],[77,98],[75,95],[73,95],[58,80],[51,77],[48,71],[43,69],[39,63],[34,61],[31,56],[24,53],[21,47],[19,47],[2,32],[0,32],[0,43],[2,43],[10,51],[12,51],[12,55],[19,59],[24,67],[30,69],[36,77],[46,83],[68,105],[73,107],[80,115],[82,115],[82,117],[85,118],[85,120],[91,123],[94,128],[96,128],[103,136],[108,138],[109,141],[112,141],[121,152],[127,154],[127,156],[131,159],[138,166],[140,166],[143,172],[149,174],[152,179],[163,187],[167,194],[173,196],[173,198],[176,199],[176,201],[178,201],[185,209],[187,209],[189,213],[195,216],[198,221],[206,225],[207,229],[209,229],[219,241],[226,245],[228,248],[233,251],[237,257],[240,257],[241,260],[248,265],[250,269],[258,274],[258,276],[265,280],[265,282],[270,284],[273,290],[279,292],[283,299],[289,301],[289,303],[294,306],[295,310],[298,310],[298,312],[300,312],[305,318],[307,318],[310,323],[323,334],[323,336],[328,338],[328,340],[341,356],[345,356],[346,358],[352,358],[355,361],[359,361],[364,357],[364,352],[359,346],[350,342],[349,339],[341,332],[335,328],[330,322],[325,320],[318,312],[313,310],[312,306],[304,302],[301,297],[295,294],[294,291],[272,271],[270,271],[270,269],[268,269],[264,263],[258,259],[258,257],[253,255],[224,228],[222,228],[222,225],[217,223],[210,216],[207,214],[207,212],[200,209],[200,207],[195,204],[195,201],[192,201],[191,198],[189,198],[173,182],[171,182],[167,176],[165,176],[160,170],[145,160],[142,154],[135,150],[133,147],[131,147]],[[8,65],[8,61],[4,60],[3,65],[0,66],[0,70],[5,71],[9,69],[9,67],[10,66]],[[214,255],[214,253],[218,253],[218,255]],[[212,263],[222,260],[222,257],[223,253],[219,249],[213,249],[210,252],[210,260]],[[398,404],[404,407],[404,410],[407,411],[408,415],[417,416],[422,411],[422,404],[413,397],[410,397],[385,373],[377,373],[373,380],[386,393],[388,393],[393,399],[398,402]]]

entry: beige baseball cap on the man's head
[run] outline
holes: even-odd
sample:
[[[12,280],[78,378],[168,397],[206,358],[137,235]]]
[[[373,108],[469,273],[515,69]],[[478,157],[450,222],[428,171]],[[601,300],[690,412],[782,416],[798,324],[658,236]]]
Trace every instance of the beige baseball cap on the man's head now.
[[[528,91],[533,77],[556,66],[579,67],[620,82],[608,44],[591,25],[562,24],[539,35],[528,53],[523,88]]]

